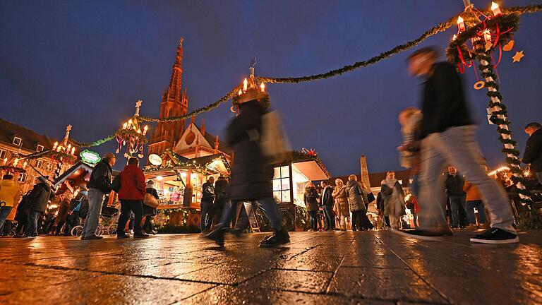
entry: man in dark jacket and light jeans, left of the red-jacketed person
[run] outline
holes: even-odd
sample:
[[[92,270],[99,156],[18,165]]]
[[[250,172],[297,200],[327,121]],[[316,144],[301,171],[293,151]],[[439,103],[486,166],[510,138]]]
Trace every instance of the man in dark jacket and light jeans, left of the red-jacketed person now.
[[[107,194],[111,192],[111,167],[115,165],[116,157],[111,152],[108,152],[100,162],[92,169],[90,181],[88,181],[88,215],[83,226],[83,234],[81,240],[102,239],[97,237],[95,232],[100,221],[102,213],[102,203]]]

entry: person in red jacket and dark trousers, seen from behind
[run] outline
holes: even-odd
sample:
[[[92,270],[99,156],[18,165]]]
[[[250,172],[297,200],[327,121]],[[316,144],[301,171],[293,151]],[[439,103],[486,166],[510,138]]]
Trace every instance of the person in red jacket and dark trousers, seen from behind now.
[[[121,201],[121,215],[119,216],[119,225],[116,230],[116,238],[124,239],[129,235],[124,232],[126,222],[130,218],[130,213],[134,215],[133,237],[149,237],[143,232],[141,222],[143,220],[143,198],[147,190],[145,188],[145,174],[138,167],[138,158],[128,159],[128,165],[124,167],[121,175],[121,189],[119,190],[119,200]]]

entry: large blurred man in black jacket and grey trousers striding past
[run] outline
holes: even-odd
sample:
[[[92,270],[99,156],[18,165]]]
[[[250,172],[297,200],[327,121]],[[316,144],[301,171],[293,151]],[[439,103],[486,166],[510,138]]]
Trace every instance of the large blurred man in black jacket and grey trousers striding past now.
[[[490,179],[476,143],[473,125],[464,99],[461,78],[454,66],[437,63],[433,47],[419,49],[408,59],[409,72],[425,78],[421,112],[421,172],[419,177],[420,229],[399,231],[407,237],[439,240],[450,236],[444,215],[446,202],[442,169],[453,164],[465,179],[478,187],[490,211],[491,225],[472,242],[509,244],[519,241],[512,227],[512,211],[505,190]]]

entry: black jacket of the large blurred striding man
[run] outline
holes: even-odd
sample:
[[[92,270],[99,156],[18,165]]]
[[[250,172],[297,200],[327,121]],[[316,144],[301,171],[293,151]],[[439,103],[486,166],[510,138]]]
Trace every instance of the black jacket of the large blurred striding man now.
[[[432,74],[423,85],[421,112],[421,138],[450,127],[473,124],[454,66],[447,62],[433,65]]]

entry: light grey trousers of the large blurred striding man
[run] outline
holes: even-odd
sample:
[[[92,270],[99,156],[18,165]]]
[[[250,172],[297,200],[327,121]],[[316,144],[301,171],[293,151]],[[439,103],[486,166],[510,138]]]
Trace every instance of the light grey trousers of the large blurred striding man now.
[[[491,227],[515,234],[508,197],[502,186],[486,174],[475,131],[474,125],[452,127],[442,133],[431,133],[422,140],[418,198],[421,229],[447,225],[445,177],[442,170],[447,165],[455,165],[459,174],[463,174],[465,180],[480,191],[490,212]]]

